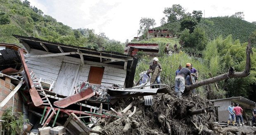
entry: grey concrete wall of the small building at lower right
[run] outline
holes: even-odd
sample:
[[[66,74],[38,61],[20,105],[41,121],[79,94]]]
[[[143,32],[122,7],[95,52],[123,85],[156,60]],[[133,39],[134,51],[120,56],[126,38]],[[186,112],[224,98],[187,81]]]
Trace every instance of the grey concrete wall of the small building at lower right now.
[[[214,101],[214,106],[218,107],[218,119],[219,121],[228,121],[228,106],[231,105],[231,100]]]

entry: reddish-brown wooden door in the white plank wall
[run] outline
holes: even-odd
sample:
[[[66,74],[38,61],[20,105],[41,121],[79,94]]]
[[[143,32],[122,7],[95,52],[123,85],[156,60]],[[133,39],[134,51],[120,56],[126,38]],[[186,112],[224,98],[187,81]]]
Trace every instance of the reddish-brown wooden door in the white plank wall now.
[[[104,67],[90,67],[88,81],[91,84],[101,84]]]

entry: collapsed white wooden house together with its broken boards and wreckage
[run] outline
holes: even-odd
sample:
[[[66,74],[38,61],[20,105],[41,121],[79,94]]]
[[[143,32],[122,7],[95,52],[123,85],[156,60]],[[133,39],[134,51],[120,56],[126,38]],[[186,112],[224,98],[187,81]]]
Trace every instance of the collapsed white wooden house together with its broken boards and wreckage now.
[[[97,133],[90,128],[114,116],[112,112],[118,114],[115,118],[123,116],[112,108],[119,99],[168,91],[166,88],[133,88],[138,61],[133,56],[34,37],[14,37],[22,47],[9,50],[5,45],[1,48],[5,56],[8,56],[6,50],[15,55],[14,61],[2,58],[6,66],[2,66],[1,72],[6,74],[1,74],[8,78],[4,81],[11,78],[11,83],[15,84],[12,88],[15,91],[11,93],[18,91],[21,96],[24,102],[21,112],[29,119],[33,130],[50,132],[52,128],[45,128],[50,124],[51,127],[64,126],[71,135]],[[10,101],[14,94],[9,94],[5,100]],[[152,98],[145,98],[145,102],[148,101]],[[5,106],[4,102],[1,104]],[[83,130],[75,133],[80,129]]]

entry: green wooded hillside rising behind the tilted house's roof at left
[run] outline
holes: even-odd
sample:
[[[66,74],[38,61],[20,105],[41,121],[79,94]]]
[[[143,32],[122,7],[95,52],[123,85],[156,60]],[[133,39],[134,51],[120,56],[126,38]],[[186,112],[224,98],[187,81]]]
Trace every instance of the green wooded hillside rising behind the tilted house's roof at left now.
[[[113,51],[118,47],[116,51],[123,53],[124,45],[121,42],[109,40],[104,33],[97,35],[94,30],[72,29],[32,7],[27,0],[0,0],[0,3],[0,42],[19,44],[12,36],[16,34],[90,49],[102,50],[104,47],[107,51]]]

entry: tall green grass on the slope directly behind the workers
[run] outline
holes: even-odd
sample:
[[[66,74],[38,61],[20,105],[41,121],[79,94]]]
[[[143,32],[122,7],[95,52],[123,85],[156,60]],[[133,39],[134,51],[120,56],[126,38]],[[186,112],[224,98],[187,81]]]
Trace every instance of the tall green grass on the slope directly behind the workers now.
[[[208,73],[209,67],[205,65],[202,60],[188,56],[184,52],[174,53],[171,56],[164,55],[158,57],[159,63],[162,66],[163,71],[161,72],[161,83],[166,84],[168,86],[174,86],[175,84],[175,71],[178,69],[179,65],[185,67],[186,63],[192,63],[193,67],[195,67],[199,72],[199,81],[210,78]],[[143,71],[149,69],[149,64],[153,62],[153,58],[144,56],[141,58],[137,64],[136,72],[135,72],[135,81],[139,79],[139,74]],[[213,70],[211,73],[216,74],[218,70]],[[207,88],[209,87],[209,88]],[[213,84],[209,84],[208,86],[201,86],[196,88],[196,93],[199,95],[209,98],[220,98],[225,95],[225,91],[219,90],[216,91],[216,88]],[[211,99],[212,99],[211,98]]]

